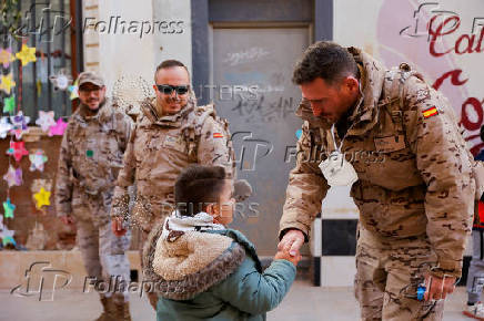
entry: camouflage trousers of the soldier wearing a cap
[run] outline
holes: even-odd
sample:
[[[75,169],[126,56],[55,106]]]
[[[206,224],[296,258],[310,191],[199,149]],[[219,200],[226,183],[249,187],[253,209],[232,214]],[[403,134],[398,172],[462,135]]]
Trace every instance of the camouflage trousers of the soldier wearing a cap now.
[[[125,251],[130,247],[131,231],[117,237],[111,230],[111,221],[98,225],[92,220],[78,220],[78,246],[81,251],[88,276],[95,280],[127,284],[124,291],[113,286],[112,291],[100,291],[101,296],[111,297],[117,303],[129,300],[130,262]],[[121,289],[121,290],[120,290]]]

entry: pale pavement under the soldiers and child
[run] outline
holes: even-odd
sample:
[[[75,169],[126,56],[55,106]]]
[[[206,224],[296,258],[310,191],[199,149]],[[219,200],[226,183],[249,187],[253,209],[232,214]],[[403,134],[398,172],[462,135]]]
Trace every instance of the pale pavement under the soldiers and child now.
[[[81,290],[59,290],[53,301],[39,301],[38,296],[16,297],[9,290],[0,290],[0,320],[94,320],[101,313],[101,304],[95,292]],[[44,299],[50,299],[49,297]],[[132,293],[132,320],[155,320],[154,311],[147,298]],[[463,287],[447,299],[445,321],[470,321],[462,314],[466,293]],[[268,313],[268,320],[312,321],[359,320],[359,306],[352,288],[316,288],[303,280],[296,280],[283,302]]]

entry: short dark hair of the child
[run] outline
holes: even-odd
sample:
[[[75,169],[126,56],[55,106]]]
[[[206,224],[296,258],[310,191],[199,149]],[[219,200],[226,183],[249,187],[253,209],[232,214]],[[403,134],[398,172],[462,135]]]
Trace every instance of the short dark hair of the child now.
[[[225,184],[225,169],[220,166],[190,165],[174,184],[174,201],[183,216],[194,216],[211,203],[219,203]]]

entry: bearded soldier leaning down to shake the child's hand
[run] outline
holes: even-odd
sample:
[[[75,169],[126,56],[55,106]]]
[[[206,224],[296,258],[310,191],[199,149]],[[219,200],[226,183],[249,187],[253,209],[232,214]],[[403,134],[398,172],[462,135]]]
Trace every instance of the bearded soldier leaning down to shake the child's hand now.
[[[296,114],[304,124],[279,247],[298,252],[330,183],[342,177],[360,209],[355,294],[362,320],[442,320],[440,299],[461,276],[475,197],[452,106],[407,64],[386,70],[332,42],[310,46],[293,81],[301,86]],[[324,176],[319,165],[337,149],[349,164]]]

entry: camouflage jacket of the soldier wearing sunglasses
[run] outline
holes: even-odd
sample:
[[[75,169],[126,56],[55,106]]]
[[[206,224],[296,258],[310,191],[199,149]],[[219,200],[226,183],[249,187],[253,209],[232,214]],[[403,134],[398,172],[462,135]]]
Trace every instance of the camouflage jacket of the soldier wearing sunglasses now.
[[[234,175],[229,124],[212,105],[189,103],[175,115],[158,116],[155,100],[145,100],[124,155],[124,167],[114,189],[112,216],[128,216],[128,186],[135,183],[131,221],[151,230],[154,221],[173,210],[174,182],[190,164],[225,167]]]

